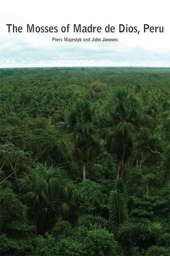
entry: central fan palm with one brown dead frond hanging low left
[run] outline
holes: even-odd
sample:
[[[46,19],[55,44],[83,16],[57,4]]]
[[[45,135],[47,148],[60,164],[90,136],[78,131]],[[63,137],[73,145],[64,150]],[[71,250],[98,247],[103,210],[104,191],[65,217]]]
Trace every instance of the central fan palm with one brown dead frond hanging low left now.
[[[73,143],[72,158],[83,163],[83,181],[86,179],[86,164],[99,150],[99,133],[96,108],[88,100],[78,101],[65,112],[60,128],[66,132]]]

